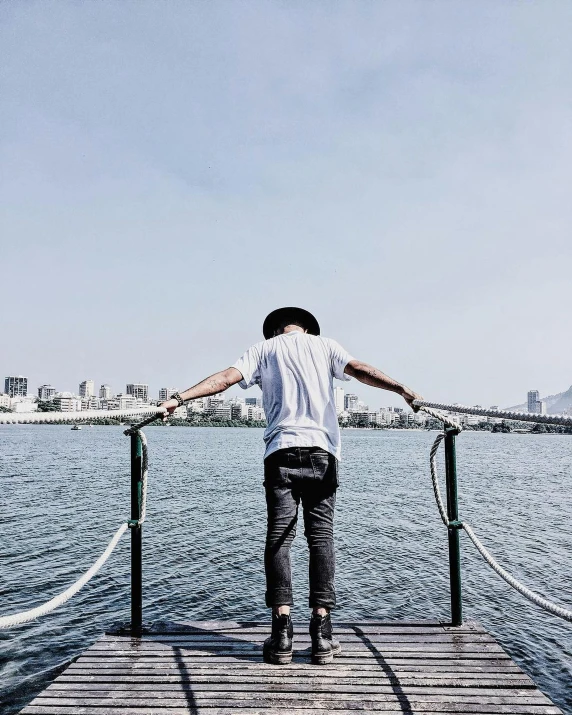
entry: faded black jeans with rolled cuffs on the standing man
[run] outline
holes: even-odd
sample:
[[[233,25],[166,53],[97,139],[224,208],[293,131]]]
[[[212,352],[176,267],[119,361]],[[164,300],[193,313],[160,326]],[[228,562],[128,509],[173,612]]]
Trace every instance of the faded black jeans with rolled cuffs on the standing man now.
[[[296,536],[298,506],[310,550],[310,607],[333,608],[334,507],[338,461],[319,447],[290,447],[264,460],[268,531],[264,550],[266,605],[292,605],[290,546]]]

